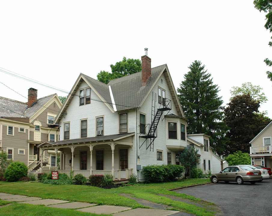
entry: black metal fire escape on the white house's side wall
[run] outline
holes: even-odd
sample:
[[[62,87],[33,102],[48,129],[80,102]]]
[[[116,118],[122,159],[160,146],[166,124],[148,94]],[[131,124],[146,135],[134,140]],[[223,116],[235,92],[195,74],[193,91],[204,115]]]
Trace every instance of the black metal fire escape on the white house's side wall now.
[[[140,126],[140,135],[139,138],[145,138],[142,144],[139,146],[139,149],[142,147],[144,143],[146,143],[146,150],[152,147],[152,151],[154,150],[154,140],[157,137],[157,126],[160,122],[161,116],[163,115],[164,111],[168,111],[167,114],[172,109],[171,100],[167,100],[167,98],[162,98],[161,104],[159,107],[157,106],[159,103],[157,101],[157,94],[152,92],[152,110],[151,110],[151,124],[145,125],[145,128],[141,128]],[[162,121],[164,118],[162,119]],[[145,134],[145,131],[148,131]],[[150,139],[150,143],[147,142],[147,139]],[[140,139],[139,139],[140,141]],[[139,142],[140,143],[140,142]]]

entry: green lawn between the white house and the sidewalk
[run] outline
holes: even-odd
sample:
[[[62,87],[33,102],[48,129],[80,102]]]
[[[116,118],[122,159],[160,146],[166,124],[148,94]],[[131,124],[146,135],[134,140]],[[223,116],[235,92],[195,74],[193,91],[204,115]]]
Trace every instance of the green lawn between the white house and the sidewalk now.
[[[198,216],[212,216],[215,215],[214,205],[204,202],[193,196],[188,196],[183,193],[176,193],[169,191],[169,189],[183,187],[194,184],[208,183],[209,179],[187,179],[180,182],[167,182],[157,184],[139,184],[135,186],[118,187],[112,189],[102,189],[99,187],[85,186],[85,185],[51,185],[39,182],[11,184],[7,182],[0,182],[0,192],[20,194],[25,196],[38,196],[42,198],[63,199],[79,202],[90,202],[98,205],[120,205],[132,208],[145,208],[136,201],[119,195],[120,193],[127,193],[130,196],[149,200],[151,202],[162,203],[164,205],[172,206],[173,209],[185,211]],[[173,201],[166,196],[159,194],[171,195],[188,199],[203,205],[203,208],[187,204],[185,202]],[[19,204],[16,204],[19,205]],[[23,205],[23,204],[20,204]],[[41,206],[43,207],[43,206]],[[12,205],[4,207],[12,208]],[[23,207],[20,207],[23,208]],[[45,208],[45,207],[44,207]],[[71,210],[70,210],[71,211]],[[0,215],[2,211],[0,208]],[[2,214],[5,215],[5,214]],[[19,214],[18,214],[19,215]],[[28,215],[28,214],[25,214]],[[32,214],[29,214],[32,215]],[[51,215],[51,214],[47,214]],[[52,215],[55,215],[52,213]],[[63,214],[66,215],[66,214]],[[68,214],[67,214],[68,215]],[[82,214],[83,215],[83,214]],[[90,215],[90,214],[88,214]]]

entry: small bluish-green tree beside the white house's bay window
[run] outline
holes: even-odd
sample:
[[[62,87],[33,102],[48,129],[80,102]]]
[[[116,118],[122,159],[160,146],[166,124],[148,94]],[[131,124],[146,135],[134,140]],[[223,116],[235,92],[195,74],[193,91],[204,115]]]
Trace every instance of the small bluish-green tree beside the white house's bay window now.
[[[195,150],[194,147],[191,146],[190,149],[185,148],[182,152],[179,153],[179,161],[185,169],[185,179],[188,170],[196,168],[197,164],[199,163],[199,159],[197,158],[197,152],[198,149]]]

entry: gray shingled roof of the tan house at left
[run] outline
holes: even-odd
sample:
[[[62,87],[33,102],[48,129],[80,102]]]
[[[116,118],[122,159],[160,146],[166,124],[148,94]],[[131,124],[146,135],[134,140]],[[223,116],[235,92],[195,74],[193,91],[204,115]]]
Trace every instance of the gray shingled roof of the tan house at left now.
[[[38,99],[37,103],[28,109],[27,103],[0,97],[0,117],[29,118],[53,98],[54,95]]]

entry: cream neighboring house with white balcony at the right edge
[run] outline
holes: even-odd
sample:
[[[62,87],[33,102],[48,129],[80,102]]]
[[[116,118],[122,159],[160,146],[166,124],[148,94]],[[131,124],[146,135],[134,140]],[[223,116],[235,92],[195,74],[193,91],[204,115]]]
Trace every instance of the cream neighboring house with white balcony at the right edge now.
[[[250,158],[252,165],[261,165],[272,168],[272,122],[270,122],[256,137],[249,143]]]

